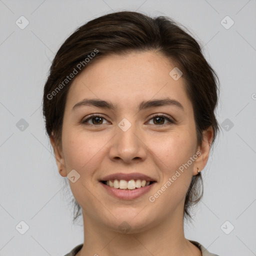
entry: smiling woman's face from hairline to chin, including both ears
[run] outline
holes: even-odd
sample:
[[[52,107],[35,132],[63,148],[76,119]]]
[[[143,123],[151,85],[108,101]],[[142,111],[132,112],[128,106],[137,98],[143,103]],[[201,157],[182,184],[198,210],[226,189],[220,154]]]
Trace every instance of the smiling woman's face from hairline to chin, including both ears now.
[[[102,57],[74,79],[55,153],[60,174],[72,170],[69,184],[84,219],[134,232],[183,219],[186,191],[206,164],[209,143],[197,146],[192,104],[183,77],[169,74],[174,67],[161,54],[134,52]],[[122,180],[102,183],[109,179]],[[143,179],[154,182],[139,188]],[[131,189],[110,187],[125,187],[123,180]]]

